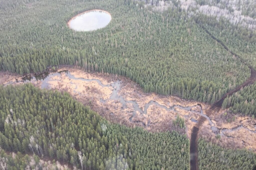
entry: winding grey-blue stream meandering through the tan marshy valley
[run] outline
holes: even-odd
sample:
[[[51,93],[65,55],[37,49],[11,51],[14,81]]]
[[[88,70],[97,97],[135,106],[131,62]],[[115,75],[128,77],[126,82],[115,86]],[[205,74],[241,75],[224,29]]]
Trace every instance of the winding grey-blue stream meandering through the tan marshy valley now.
[[[113,91],[112,91],[112,94],[110,96],[109,99],[111,100],[118,100],[121,104],[122,104],[122,107],[123,108],[126,108],[126,105],[131,103],[133,105],[133,114],[132,116],[129,118],[130,122],[136,122],[136,123],[141,123],[143,127],[148,127],[150,126],[151,122],[150,120],[148,121],[148,123],[145,125],[143,122],[141,121],[134,121],[133,120],[133,117],[136,115],[137,112],[139,112],[140,114],[147,114],[147,109],[151,106],[151,105],[156,105],[158,107],[161,107],[163,109],[165,109],[166,111],[170,112],[176,112],[178,113],[178,111],[176,110],[176,108],[178,109],[181,109],[181,110],[186,110],[186,111],[190,111],[191,113],[195,113],[197,115],[200,115],[202,117],[204,117],[210,127],[211,127],[211,130],[212,132],[214,132],[215,134],[220,134],[220,135],[224,135],[225,132],[232,132],[232,131],[235,131],[235,130],[239,130],[241,128],[245,128],[246,130],[248,131],[251,131],[251,132],[254,132],[256,133],[256,131],[252,131],[250,129],[248,129],[247,127],[244,127],[243,125],[239,125],[237,127],[234,127],[234,128],[231,128],[231,129],[226,129],[226,128],[223,128],[223,129],[218,129],[215,124],[212,122],[212,120],[210,119],[209,116],[207,116],[206,114],[204,114],[203,110],[202,110],[202,106],[200,104],[197,104],[197,105],[192,105],[192,106],[181,106],[181,105],[172,105],[172,106],[169,106],[169,107],[166,107],[165,105],[161,105],[159,104],[158,102],[154,101],[154,100],[151,100],[150,102],[146,103],[144,105],[144,110],[142,110],[138,103],[136,101],[133,101],[133,100],[129,100],[129,101],[126,101],[123,96],[119,95],[118,92],[121,90],[121,81],[120,80],[117,80],[117,81],[114,81],[113,83],[111,84],[103,84],[99,79],[85,79],[85,78],[76,78],[75,76],[71,75],[70,72],[68,70],[63,70],[63,71],[60,71],[60,72],[55,72],[55,73],[50,73],[50,74],[46,74],[46,76],[34,76],[32,78],[23,78],[23,82],[30,82],[30,81],[33,81],[33,80],[36,80],[36,81],[41,81],[42,84],[41,84],[41,88],[42,89],[50,89],[50,84],[48,82],[52,81],[51,78],[54,77],[54,76],[61,76],[61,73],[65,73],[66,76],[71,79],[71,80],[82,80],[82,81],[88,81],[88,82],[91,82],[91,81],[96,81],[101,87],[112,87],[113,88]],[[19,81],[16,81],[16,82],[19,82]],[[13,82],[9,82],[9,83],[6,83],[6,84],[10,84],[10,83],[13,83]],[[71,82],[72,83],[72,82]],[[74,92],[76,93],[79,93],[79,95],[82,95],[80,92],[76,91],[77,87],[73,90]],[[105,103],[105,100],[103,99],[100,99],[100,102],[102,103]],[[197,107],[199,106],[200,107],[200,111],[195,111],[195,110],[192,110],[194,107]],[[185,118],[189,118],[188,115],[184,115]],[[200,120],[196,120],[194,118],[190,118],[190,120],[192,122],[195,122],[195,123],[198,123]],[[256,126],[255,126],[256,128]]]

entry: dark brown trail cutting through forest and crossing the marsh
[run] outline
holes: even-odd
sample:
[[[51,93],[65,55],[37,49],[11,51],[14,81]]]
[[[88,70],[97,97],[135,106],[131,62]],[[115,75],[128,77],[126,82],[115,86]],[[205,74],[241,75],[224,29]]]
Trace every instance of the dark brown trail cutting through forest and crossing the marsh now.
[[[200,23],[197,23],[199,26],[201,26],[209,35],[212,39],[216,40],[218,43],[220,43],[228,52],[230,52],[232,55],[236,56],[238,59],[241,60],[241,62],[245,63],[240,56],[238,56],[236,53],[230,51],[228,49],[228,47],[219,39],[217,39],[216,37],[214,37],[214,35],[212,35],[204,26],[200,25]],[[246,63],[245,63],[246,64]],[[246,64],[248,65],[248,64]],[[215,102],[213,105],[211,105],[211,107],[205,111],[206,115],[209,117],[210,115],[219,112],[220,108],[222,106],[222,103],[224,101],[224,99],[229,95],[232,95],[236,92],[238,92],[241,88],[244,88],[250,84],[253,84],[254,82],[256,82],[256,71],[251,67],[248,66],[250,68],[251,71],[251,76],[240,86],[238,86],[237,88],[235,88],[234,90],[226,93],[219,101]],[[193,127],[192,129],[192,133],[191,133],[191,140],[190,140],[190,170],[198,170],[198,148],[197,148],[197,140],[198,140],[198,132],[202,126],[202,124],[204,124],[204,122],[207,119],[203,116],[201,116],[198,120],[198,123]],[[256,169],[256,166],[255,168]]]

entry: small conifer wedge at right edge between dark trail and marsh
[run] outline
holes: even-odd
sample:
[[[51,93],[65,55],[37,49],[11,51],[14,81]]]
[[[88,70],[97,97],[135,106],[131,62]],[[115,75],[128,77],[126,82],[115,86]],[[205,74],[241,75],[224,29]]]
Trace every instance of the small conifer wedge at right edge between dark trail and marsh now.
[[[230,107],[234,113],[256,117],[256,82],[234,93],[223,101],[222,108]]]

